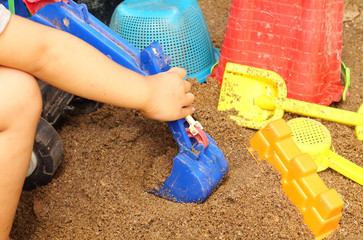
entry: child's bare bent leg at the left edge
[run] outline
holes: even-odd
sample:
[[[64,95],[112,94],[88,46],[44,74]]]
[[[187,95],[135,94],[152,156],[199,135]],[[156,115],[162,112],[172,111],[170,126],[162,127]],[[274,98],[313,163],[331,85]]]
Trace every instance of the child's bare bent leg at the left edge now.
[[[9,238],[41,109],[35,78],[0,66],[0,240]]]

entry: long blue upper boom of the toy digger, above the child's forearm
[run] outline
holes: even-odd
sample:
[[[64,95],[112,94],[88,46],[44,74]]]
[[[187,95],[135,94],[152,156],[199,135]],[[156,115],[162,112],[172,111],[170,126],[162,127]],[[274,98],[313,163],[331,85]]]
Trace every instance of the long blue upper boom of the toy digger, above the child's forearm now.
[[[57,2],[39,9],[30,20],[68,32],[111,58],[118,64],[140,73],[148,69],[140,63],[140,51],[90,14],[85,4]]]

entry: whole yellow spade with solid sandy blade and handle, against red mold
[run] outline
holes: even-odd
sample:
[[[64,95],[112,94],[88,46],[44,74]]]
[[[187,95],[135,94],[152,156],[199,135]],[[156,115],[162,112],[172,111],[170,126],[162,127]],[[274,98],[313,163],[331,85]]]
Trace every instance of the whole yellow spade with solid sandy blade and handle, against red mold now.
[[[285,81],[273,71],[227,63],[218,110],[228,111],[237,124],[262,129],[284,111],[355,126],[363,140],[363,105],[358,113],[286,98]]]

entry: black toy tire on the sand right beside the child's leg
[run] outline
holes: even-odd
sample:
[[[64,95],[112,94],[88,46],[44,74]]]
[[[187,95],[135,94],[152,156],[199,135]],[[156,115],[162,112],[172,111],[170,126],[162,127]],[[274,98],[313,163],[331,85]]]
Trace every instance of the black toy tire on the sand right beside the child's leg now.
[[[34,171],[25,178],[24,190],[32,190],[52,181],[53,175],[64,157],[61,138],[53,126],[40,118],[35,133],[33,153],[37,162]]]

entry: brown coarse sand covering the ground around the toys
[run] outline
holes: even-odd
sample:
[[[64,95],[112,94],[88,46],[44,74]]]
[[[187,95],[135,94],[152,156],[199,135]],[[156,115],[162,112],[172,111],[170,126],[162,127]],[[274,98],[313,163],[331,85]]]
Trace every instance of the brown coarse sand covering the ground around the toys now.
[[[231,0],[199,0],[213,45],[222,47]],[[343,61],[350,96],[332,106],[357,111],[363,102],[363,3],[346,1]],[[17,239],[314,239],[281,188],[279,173],[256,161],[246,145],[256,130],[217,111],[219,84],[193,82],[194,118],[223,151],[229,173],[203,204],[182,204],[148,189],[165,179],[178,153],[166,123],[135,110],[104,105],[69,115],[59,129],[65,158],[53,181],[24,191],[11,232]],[[285,113],[284,119],[298,117]],[[321,121],[335,151],[363,167],[354,128]],[[363,239],[363,187],[328,169],[319,173],[344,201],[340,228],[328,238]]]

